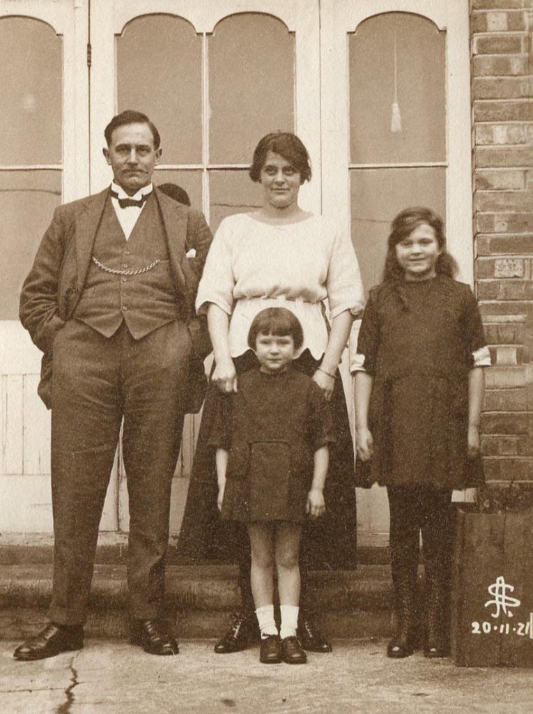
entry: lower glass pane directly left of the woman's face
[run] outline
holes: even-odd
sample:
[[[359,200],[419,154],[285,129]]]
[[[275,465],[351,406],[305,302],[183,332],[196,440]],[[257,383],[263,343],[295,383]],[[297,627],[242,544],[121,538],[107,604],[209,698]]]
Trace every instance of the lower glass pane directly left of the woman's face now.
[[[263,191],[248,176],[248,171],[211,171],[210,221],[213,233],[226,216],[254,211],[263,205]]]

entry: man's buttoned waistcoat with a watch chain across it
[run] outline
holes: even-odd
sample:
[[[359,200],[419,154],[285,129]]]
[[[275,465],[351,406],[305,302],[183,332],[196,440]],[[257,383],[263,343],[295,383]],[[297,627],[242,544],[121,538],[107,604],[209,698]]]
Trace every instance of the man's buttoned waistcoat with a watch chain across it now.
[[[76,319],[104,337],[111,337],[125,321],[136,339],[178,319],[176,286],[155,196],[146,201],[128,241],[108,198],[96,232],[93,256],[104,266],[119,271],[132,271],[153,261],[159,262],[138,275],[115,275],[91,261],[73,314]]]

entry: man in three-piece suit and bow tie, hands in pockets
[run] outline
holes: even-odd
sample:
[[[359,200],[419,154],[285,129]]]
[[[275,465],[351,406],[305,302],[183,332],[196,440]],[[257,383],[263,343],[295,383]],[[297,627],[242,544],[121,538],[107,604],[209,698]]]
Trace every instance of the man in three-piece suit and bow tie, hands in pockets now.
[[[211,235],[201,213],[153,187],[161,146],[146,115],[118,114],[105,137],[111,188],[56,209],[21,293],[21,322],[44,352],[55,543],[51,621],[19,660],[83,646],[122,420],[131,639],[178,653],[163,619],[165,557],[190,365],[208,352],[193,301]]]

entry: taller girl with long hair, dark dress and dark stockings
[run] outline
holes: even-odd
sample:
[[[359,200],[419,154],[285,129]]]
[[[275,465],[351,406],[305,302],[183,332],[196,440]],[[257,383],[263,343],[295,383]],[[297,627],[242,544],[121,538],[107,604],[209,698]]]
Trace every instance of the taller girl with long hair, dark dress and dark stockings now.
[[[415,649],[420,530],[425,655],[446,653],[452,489],[483,481],[479,416],[490,364],[477,303],[453,279],[442,220],[407,208],[392,221],[385,271],[352,357],[357,485],[387,487],[397,629],[393,658]]]

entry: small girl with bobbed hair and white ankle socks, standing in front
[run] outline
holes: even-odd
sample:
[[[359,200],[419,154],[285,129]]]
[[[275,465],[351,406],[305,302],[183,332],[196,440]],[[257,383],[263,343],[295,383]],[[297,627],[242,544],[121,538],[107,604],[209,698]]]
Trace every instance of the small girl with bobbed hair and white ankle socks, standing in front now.
[[[304,664],[298,638],[300,533],[306,514],[325,511],[324,484],[332,421],[322,392],[291,363],[302,326],[285,308],[253,319],[248,345],[258,367],[239,376],[238,391],[220,395],[211,446],[217,448],[218,508],[243,521],[251,546],[251,586],[261,632],[260,661]],[[273,564],[278,572],[281,630],[274,620]]]

